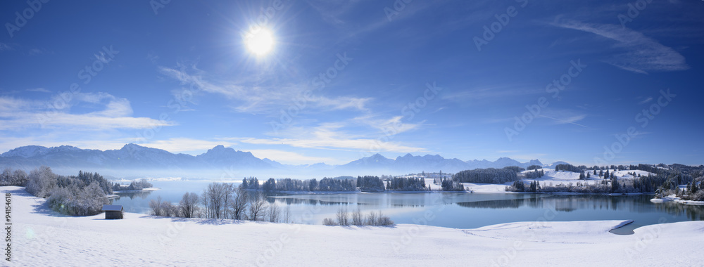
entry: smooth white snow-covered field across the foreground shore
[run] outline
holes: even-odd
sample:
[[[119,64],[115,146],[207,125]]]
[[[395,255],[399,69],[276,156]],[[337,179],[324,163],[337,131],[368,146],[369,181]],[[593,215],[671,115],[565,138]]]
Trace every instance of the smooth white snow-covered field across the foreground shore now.
[[[12,193],[6,266],[702,266],[704,221],[608,231],[624,221],[505,223],[461,230],[330,227],[125,214],[68,217]],[[432,219],[419,218],[419,223]],[[548,221],[548,222],[540,222]]]

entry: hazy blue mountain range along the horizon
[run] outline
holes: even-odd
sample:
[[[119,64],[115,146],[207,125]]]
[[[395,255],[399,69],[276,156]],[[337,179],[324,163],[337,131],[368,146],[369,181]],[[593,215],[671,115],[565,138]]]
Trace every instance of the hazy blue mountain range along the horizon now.
[[[555,162],[562,163],[562,162]],[[127,144],[119,150],[89,150],[70,145],[46,148],[28,145],[0,154],[0,167],[13,169],[33,169],[46,165],[54,169],[239,169],[268,171],[304,171],[308,173],[325,172],[341,174],[409,174],[420,171],[457,172],[465,169],[503,168],[507,166],[528,167],[542,164],[538,159],[518,162],[515,159],[501,157],[491,162],[486,159],[463,161],[446,159],[440,155],[414,156],[406,154],[389,159],[380,154],[363,157],[341,165],[325,163],[289,165],[271,159],[260,159],[251,152],[215,146],[201,155],[174,154],[166,150],[147,148],[141,145]],[[364,171],[375,171],[374,173]]]

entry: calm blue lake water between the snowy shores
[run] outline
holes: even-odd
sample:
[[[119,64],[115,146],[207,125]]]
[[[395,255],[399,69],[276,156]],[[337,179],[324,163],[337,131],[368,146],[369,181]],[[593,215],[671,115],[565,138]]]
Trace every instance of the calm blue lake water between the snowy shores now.
[[[177,203],[186,192],[201,194],[210,181],[155,181],[160,190],[119,194],[127,212],[149,213],[149,200],[161,196]],[[237,183],[236,183],[237,184]],[[296,223],[320,224],[341,207],[363,214],[382,211],[395,223],[478,228],[516,221],[634,220],[618,233],[655,223],[704,219],[704,206],[650,202],[652,195],[546,195],[501,193],[272,194],[270,203],[290,209]]]

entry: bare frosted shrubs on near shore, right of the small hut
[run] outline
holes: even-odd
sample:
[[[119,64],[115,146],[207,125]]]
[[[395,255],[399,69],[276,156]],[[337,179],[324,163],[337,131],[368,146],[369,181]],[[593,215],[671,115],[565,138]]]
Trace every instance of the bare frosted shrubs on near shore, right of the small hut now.
[[[162,201],[158,197],[149,202],[149,208],[151,214],[156,216],[274,223],[289,223],[291,220],[289,209],[282,211],[276,202],[268,202],[263,191],[252,192],[232,183],[210,183],[201,195],[185,193],[178,204]]]

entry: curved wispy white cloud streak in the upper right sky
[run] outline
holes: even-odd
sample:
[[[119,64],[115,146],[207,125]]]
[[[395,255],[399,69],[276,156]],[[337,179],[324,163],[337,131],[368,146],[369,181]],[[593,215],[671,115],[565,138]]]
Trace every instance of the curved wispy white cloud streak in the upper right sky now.
[[[615,50],[625,50],[615,53],[605,62],[630,72],[647,74],[648,72],[671,72],[687,70],[684,56],[674,49],[660,44],[655,39],[646,37],[641,32],[636,32],[620,25],[599,25],[582,23],[573,20],[560,20],[552,23],[553,26],[572,30],[590,32],[598,36],[616,41]]]

